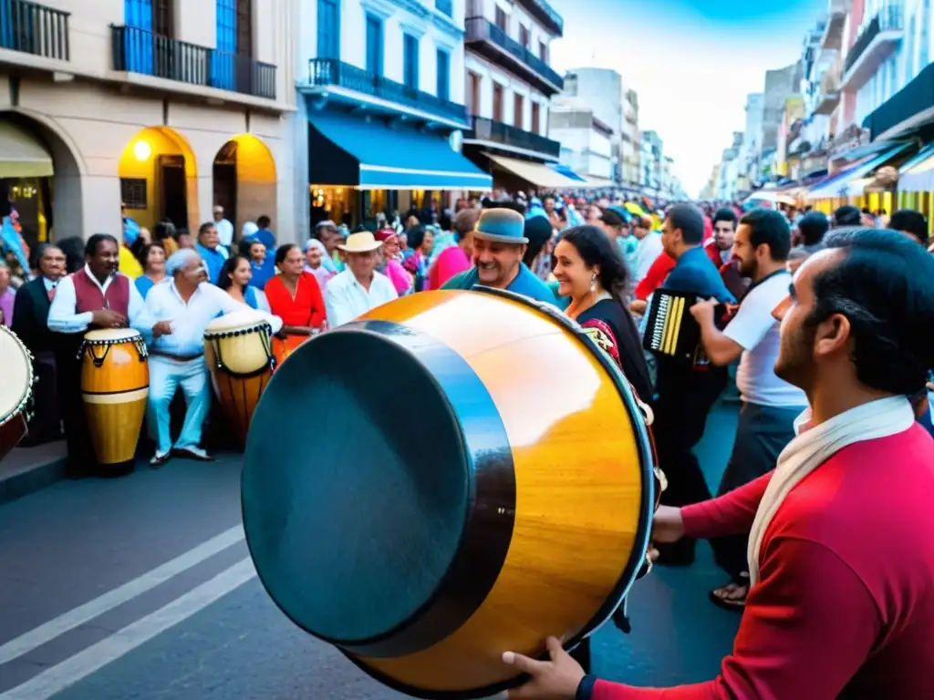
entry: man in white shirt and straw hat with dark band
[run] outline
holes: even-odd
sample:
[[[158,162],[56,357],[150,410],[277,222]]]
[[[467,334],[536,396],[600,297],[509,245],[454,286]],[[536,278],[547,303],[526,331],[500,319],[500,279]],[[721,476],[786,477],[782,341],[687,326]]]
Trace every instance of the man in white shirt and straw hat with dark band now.
[[[329,328],[337,328],[398,298],[389,277],[376,272],[382,245],[372,232],[361,231],[351,233],[347,243],[337,246],[347,255],[347,269],[332,277],[325,289]]]

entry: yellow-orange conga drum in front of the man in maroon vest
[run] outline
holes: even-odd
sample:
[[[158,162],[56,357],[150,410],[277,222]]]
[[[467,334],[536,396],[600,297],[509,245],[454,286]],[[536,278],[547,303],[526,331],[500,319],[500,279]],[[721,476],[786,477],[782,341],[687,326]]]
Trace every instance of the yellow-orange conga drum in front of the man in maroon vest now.
[[[81,397],[99,464],[133,462],[149,397],[149,353],[134,329],[89,330],[78,352]]]

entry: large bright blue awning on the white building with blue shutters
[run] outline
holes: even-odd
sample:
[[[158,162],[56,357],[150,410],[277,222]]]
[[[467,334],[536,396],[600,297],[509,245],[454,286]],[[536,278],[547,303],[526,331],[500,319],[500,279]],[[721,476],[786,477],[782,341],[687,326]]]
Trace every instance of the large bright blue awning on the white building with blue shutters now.
[[[488,191],[493,178],[446,136],[321,110],[309,115],[308,181],[358,189]]]

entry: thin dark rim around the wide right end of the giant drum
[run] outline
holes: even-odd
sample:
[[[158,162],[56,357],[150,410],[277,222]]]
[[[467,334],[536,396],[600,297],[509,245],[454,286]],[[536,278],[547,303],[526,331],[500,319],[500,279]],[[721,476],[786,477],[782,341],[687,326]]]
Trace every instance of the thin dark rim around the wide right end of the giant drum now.
[[[636,400],[632,396],[632,389],[630,388],[629,381],[622,371],[616,367],[616,363],[590,339],[587,333],[584,332],[584,329],[572,318],[564,315],[550,304],[535,301],[529,297],[503,289],[474,286],[471,291],[501,297],[502,299],[510,301],[517,301],[525,306],[530,306],[557,321],[565,329],[570,330],[573,336],[587,347],[591,355],[597,358],[597,361],[600,362],[601,366],[610,375],[614,385],[616,385],[616,390],[623,399],[627,413],[630,413],[630,418],[634,424],[634,431],[638,433],[641,438],[641,440],[638,441],[638,449],[642,457],[640,465],[643,469],[642,503],[640,504],[639,525],[636,528],[636,535],[633,543],[633,556],[630,556],[630,561],[623,569],[623,573],[619,581],[617,581],[616,587],[613,592],[607,596],[606,602],[597,610],[593,619],[584,625],[580,633],[563,644],[566,651],[571,651],[587,636],[613,617],[613,613],[622,604],[626,595],[629,594],[632,584],[638,579],[639,571],[644,565],[645,554],[648,552],[649,539],[652,531],[652,513],[655,506],[655,459],[652,455],[651,441],[649,440],[648,431],[644,422],[642,420],[637,420],[642,413],[639,410]],[[635,554],[638,554],[638,556]],[[347,659],[349,659],[351,663],[359,667],[371,678],[378,680],[394,691],[405,693],[413,697],[423,698],[423,700],[476,700],[477,698],[489,697],[497,693],[512,690],[529,680],[528,676],[520,674],[512,679],[506,679],[483,688],[475,688],[466,691],[429,691],[394,679],[382,671],[375,669],[373,666],[367,665],[361,659],[354,656],[352,652],[346,651],[341,647],[338,647],[338,649],[347,656]],[[540,659],[545,660],[546,657],[547,654],[543,654]]]

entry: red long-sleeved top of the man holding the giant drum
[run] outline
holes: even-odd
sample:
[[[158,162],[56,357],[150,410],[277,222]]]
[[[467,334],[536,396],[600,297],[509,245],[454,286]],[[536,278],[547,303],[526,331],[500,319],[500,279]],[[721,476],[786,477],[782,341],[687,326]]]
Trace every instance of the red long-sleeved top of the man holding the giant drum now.
[[[687,506],[688,535],[746,534],[771,473]],[[643,689],[598,680],[591,700],[930,697],[934,441],[917,425],[856,442],[775,513],[732,655],[715,680]]]

